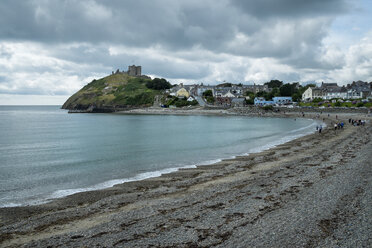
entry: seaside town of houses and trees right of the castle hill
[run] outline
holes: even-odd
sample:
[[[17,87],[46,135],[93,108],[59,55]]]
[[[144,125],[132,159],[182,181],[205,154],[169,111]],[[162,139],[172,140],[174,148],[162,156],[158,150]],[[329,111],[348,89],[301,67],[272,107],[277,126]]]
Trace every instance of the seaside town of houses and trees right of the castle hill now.
[[[247,105],[256,106],[282,106],[299,105],[299,103],[322,102],[322,103],[343,103],[350,102],[354,105],[372,101],[372,82],[354,81],[346,86],[339,86],[337,83],[321,83],[316,86],[310,84],[301,86],[300,83],[283,84],[279,80],[279,87],[269,87],[270,82],[263,85],[243,85],[222,83],[219,85],[193,84],[175,85],[166,90],[170,96],[186,98],[187,101],[198,101],[201,106],[220,107],[243,107]],[[281,87],[290,90],[281,95]],[[300,96],[300,97],[298,97]],[[361,103],[361,104],[360,104]],[[336,106],[341,104],[336,104]]]

